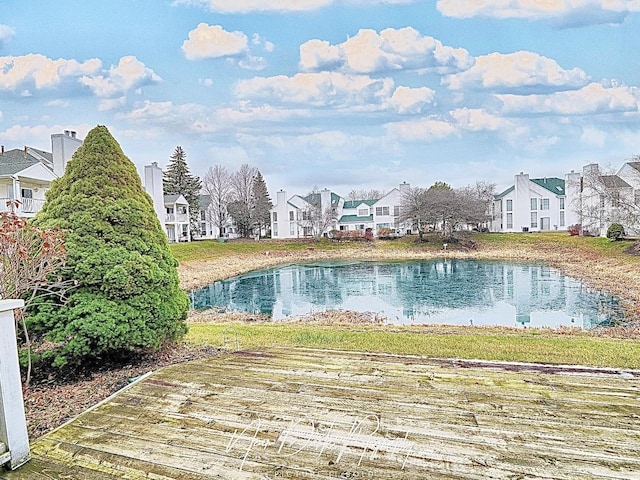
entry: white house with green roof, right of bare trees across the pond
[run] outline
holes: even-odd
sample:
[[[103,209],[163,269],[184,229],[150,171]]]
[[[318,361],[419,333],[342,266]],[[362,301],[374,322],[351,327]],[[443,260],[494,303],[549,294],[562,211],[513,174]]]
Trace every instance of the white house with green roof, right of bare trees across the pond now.
[[[565,180],[534,178],[520,173],[514,184],[494,197],[491,206],[492,232],[543,232],[567,230],[577,223],[570,207]],[[573,191],[573,190],[571,190]]]

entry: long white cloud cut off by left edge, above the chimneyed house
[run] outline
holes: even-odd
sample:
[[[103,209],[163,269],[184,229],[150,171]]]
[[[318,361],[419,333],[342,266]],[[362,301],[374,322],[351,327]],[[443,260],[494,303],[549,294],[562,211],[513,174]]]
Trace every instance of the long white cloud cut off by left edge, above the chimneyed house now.
[[[31,95],[29,88],[37,90],[58,86],[65,78],[94,73],[102,63],[96,58],[85,62],[52,60],[40,54],[0,57],[0,90],[21,89],[20,95]]]

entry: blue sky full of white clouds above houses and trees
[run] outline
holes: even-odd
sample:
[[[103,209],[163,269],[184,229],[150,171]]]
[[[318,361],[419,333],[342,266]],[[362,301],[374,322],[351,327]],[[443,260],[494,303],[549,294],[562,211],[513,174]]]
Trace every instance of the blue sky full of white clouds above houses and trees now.
[[[143,171],[501,191],[640,154],[640,0],[2,0],[0,143],[106,125]]]

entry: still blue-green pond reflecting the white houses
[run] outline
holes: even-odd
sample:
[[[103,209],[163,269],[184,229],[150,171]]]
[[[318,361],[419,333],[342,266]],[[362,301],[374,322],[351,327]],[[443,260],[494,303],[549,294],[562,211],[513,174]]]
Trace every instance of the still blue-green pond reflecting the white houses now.
[[[621,318],[615,298],[554,268],[460,259],[286,265],[213,283],[191,297],[195,309],[273,320],[352,310],[393,324],[592,328]]]

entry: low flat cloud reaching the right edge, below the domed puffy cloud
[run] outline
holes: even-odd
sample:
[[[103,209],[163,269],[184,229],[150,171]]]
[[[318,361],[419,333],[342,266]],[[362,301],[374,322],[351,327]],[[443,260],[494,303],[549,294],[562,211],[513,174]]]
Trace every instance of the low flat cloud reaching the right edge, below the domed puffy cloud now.
[[[591,83],[579,90],[551,95],[496,95],[509,114],[590,115],[610,112],[638,112],[640,89],[605,87]]]

